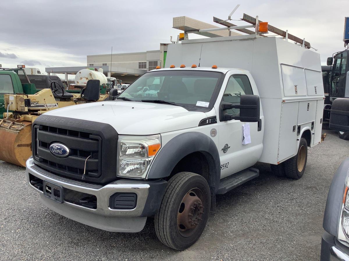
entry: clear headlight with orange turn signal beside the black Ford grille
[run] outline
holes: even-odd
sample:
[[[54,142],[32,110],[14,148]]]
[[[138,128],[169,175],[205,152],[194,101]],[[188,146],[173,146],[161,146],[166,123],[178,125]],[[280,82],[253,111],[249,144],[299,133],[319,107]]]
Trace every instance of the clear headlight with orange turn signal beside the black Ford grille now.
[[[143,177],[161,148],[160,135],[119,136],[119,176]]]

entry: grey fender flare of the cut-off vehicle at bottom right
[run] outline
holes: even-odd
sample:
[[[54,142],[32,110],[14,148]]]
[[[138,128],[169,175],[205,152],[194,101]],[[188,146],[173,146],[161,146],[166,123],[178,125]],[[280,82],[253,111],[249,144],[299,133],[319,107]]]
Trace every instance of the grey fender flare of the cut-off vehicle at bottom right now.
[[[339,218],[341,215],[343,195],[348,174],[349,158],[345,159],[341,163],[336,173],[334,174],[327,196],[324,222],[322,223],[322,227],[325,229],[325,231],[335,237],[338,237],[337,234]]]

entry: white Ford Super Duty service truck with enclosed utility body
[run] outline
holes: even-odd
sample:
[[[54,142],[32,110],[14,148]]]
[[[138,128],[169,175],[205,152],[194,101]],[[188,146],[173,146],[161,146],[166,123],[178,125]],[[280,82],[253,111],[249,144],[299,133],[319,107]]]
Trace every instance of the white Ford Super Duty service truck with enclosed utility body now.
[[[156,95],[132,95],[154,82]],[[320,57],[309,49],[258,33],[183,40],[169,45],[166,68],[115,100],[39,116],[28,183],[45,206],[99,229],[138,232],[155,216],[159,240],[183,250],[215,195],[257,177],[258,161],[302,177],[323,108]]]

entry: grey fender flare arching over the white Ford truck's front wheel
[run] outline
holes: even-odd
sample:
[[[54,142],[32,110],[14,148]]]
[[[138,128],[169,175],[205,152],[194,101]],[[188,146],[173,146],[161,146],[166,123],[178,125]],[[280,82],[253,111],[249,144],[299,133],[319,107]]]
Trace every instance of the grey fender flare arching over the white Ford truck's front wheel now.
[[[221,161],[214,141],[200,132],[187,132],[174,137],[159,151],[150,166],[147,179],[161,179],[168,177],[177,163],[193,152],[206,152],[212,157],[210,175],[215,184],[209,184],[217,189],[221,177]],[[210,183],[210,182],[209,182]]]

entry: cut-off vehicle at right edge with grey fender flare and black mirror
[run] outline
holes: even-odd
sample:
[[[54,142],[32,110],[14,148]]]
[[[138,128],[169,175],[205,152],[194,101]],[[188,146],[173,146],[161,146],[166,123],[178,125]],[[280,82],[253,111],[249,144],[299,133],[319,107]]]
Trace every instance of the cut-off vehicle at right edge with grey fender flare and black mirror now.
[[[349,132],[349,99],[337,98],[332,104],[331,129]],[[333,176],[324,213],[321,261],[349,261],[349,158]]]

